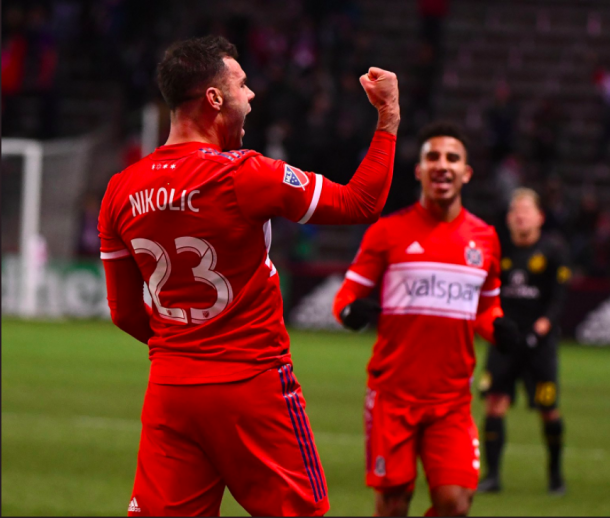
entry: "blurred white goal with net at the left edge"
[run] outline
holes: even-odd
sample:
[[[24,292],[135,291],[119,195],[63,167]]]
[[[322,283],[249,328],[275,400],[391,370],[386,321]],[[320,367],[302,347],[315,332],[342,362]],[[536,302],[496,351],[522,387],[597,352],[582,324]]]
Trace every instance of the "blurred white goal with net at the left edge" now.
[[[90,137],[2,139],[2,314],[106,316],[99,260],[78,258]]]

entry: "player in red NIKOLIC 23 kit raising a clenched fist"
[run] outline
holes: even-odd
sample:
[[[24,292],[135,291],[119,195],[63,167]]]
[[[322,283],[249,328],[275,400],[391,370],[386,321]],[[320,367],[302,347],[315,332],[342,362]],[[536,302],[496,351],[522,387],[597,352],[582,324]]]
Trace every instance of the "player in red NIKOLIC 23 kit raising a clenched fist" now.
[[[235,47],[171,46],[158,82],[168,141],[115,175],[99,218],[113,322],[150,349],[132,516],[316,516],[324,472],[294,375],[269,220],[379,218],[400,120],[396,75],[360,78],[379,119],[347,185],[240,149],[254,93]],[[143,282],[152,308],[143,300]]]

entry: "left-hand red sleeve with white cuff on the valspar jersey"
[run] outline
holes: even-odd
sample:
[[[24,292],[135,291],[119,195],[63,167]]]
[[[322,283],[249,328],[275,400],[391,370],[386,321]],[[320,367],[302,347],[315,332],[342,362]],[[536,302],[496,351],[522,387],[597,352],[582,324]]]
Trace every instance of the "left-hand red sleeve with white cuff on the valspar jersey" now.
[[[339,322],[339,315],[345,306],[368,296],[379,283],[387,267],[386,243],[385,229],[381,222],[372,225],[364,234],[360,249],[347,270],[333,303],[333,315]]]

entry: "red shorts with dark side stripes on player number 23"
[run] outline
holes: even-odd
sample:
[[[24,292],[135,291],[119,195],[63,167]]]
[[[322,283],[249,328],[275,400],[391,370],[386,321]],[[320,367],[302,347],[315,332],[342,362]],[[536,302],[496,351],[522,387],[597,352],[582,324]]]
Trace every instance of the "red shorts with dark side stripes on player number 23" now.
[[[149,383],[129,516],[319,516],[326,480],[291,365],[209,385]]]

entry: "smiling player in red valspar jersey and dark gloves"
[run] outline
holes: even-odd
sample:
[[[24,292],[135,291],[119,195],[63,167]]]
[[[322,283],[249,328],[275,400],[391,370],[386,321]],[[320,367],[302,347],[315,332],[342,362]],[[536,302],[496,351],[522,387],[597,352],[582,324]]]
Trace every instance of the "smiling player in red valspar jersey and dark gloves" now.
[[[375,515],[406,516],[420,456],[433,504],[426,515],[461,516],[479,474],[475,324],[500,347],[517,331],[499,304],[496,232],[462,207],[472,169],[459,127],[422,130],[415,176],[419,202],[367,230],[333,311],[352,329],[379,316],[364,410]],[[366,298],[378,284],[381,305]]]

